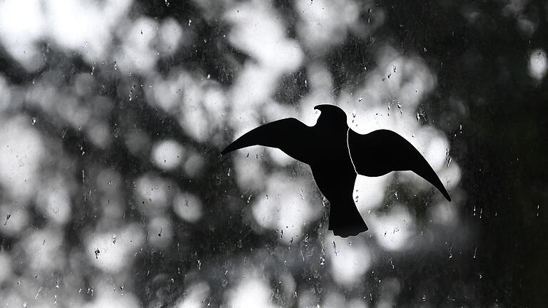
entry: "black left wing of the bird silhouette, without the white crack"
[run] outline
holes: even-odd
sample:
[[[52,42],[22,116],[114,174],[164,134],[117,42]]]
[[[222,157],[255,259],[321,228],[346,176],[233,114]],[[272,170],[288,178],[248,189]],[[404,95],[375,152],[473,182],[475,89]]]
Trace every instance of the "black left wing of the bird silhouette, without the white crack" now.
[[[264,145],[279,148],[296,160],[310,163],[310,157],[313,155],[313,149],[310,148],[313,135],[310,131],[309,126],[295,118],[276,120],[245,133],[230,143],[221,154],[251,145]]]

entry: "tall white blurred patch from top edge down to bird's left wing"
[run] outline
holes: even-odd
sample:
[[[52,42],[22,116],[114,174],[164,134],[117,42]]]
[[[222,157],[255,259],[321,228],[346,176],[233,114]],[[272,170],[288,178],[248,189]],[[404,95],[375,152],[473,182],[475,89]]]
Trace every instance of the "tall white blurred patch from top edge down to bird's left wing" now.
[[[230,93],[235,102],[230,124],[241,135],[259,124],[253,111],[270,101],[283,74],[300,66],[303,51],[297,41],[288,39],[285,25],[270,5],[259,1],[239,4],[225,19],[232,25],[230,43],[255,60],[244,63]]]

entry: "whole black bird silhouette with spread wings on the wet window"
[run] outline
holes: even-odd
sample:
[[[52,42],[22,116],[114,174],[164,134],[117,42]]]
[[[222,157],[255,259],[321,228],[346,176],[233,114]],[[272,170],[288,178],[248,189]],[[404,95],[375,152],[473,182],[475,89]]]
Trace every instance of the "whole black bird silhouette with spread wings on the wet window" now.
[[[377,177],[411,170],[451,201],[435,171],[405,138],[392,130],[361,135],[348,127],[346,113],[338,106],[323,104],[314,109],[321,112],[314,126],[295,118],[276,120],[245,133],[221,154],[263,145],[310,165],[316,185],[330,202],[328,230],[340,237],[368,229],[352,198],[358,174]]]

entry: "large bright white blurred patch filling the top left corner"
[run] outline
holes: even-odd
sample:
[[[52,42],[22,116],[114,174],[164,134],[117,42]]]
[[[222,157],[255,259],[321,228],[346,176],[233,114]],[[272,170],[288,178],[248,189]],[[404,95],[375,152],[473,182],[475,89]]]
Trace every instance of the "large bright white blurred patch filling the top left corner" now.
[[[97,5],[76,0],[6,0],[0,3],[0,40],[27,71],[44,65],[37,43],[51,39],[62,48],[80,51],[88,63],[104,60],[113,29],[131,0],[107,0]]]

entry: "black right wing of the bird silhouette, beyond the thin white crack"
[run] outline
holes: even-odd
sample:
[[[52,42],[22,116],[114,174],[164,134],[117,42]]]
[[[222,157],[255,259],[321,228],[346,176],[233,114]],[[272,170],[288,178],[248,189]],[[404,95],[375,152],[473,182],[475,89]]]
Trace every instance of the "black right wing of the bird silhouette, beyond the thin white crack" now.
[[[411,170],[451,201],[442,181],[426,159],[409,141],[392,130],[375,130],[367,135],[349,130],[348,148],[358,174],[380,176],[390,171]]]

